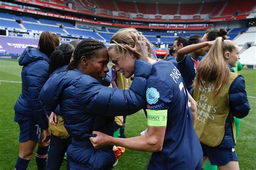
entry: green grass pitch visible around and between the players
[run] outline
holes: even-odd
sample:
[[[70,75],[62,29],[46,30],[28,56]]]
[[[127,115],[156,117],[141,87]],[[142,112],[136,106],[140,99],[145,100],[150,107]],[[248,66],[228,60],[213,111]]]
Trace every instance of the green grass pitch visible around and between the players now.
[[[14,122],[14,104],[21,94],[21,70],[17,60],[0,60],[0,169],[13,169],[18,155],[19,127]],[[246,91],[251,104],[250,114],[241,120],[237,146],[235,147],[240,169],[256,169],[256,70],[243,69]],[[3,82],[17,81],[17,82]],[[126,119],[126,137],[138,136],[146,129],[143,111],[128,116]],[[114,169],[146,169],[150,152],[138,152],[127,149]],[[35,158],[30,161],[28,169],[37,169]],[[66,169],[66,161],[61,169]]]

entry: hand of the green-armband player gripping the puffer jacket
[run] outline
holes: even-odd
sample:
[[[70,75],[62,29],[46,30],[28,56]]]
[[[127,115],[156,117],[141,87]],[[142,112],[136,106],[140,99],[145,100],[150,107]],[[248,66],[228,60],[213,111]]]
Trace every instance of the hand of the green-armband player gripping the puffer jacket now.
[[[97,150],[99,148],[102,148],[106,145],[109,145],[109,139],[111,136],[108,136],[105,133],[99,132],[99,131],[93,131],[92,134],[96,134],[96,137],[90,137],[90,141]]]

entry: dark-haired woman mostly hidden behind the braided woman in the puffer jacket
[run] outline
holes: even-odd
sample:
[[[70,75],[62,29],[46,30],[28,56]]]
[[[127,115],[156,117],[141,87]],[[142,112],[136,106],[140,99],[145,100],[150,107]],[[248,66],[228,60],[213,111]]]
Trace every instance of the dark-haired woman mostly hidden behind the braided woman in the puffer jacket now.
[[[62,44],[53,51],[50,59],[50,77],[68,67],[74,49],[71,44]],[[53,112],[46,109],[46,114],[50,115],[49,129],[51,131],[49,159],[46,169],[59,169],[62,165],[64,154],[71,143],[71,137],[64,127],[59,107]],[[69,169],[69,160],[67,169]]]

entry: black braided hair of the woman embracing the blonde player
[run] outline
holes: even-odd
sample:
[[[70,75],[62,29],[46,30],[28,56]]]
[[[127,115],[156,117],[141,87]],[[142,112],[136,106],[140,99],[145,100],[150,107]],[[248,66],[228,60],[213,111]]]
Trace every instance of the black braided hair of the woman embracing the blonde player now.
[[[102,48],[106,48],[103,42],[91,38],[83,39],[77,45],[73,53],[74,60],[69,63],[66,70],[76,69],[82,56],[85,56],[87,59],[91,59],[93,54],[95,54],[96,49]]]

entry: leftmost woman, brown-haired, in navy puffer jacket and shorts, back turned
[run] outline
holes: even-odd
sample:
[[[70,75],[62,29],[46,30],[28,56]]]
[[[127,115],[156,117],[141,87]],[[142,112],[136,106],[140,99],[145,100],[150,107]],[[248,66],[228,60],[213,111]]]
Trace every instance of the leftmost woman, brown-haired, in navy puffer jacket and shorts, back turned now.
[[[38,169],[45,169],[50,131],[48,118],[38,95],[48,79],[51,53],[59,45],[59,38],[42,32],[38,48],[26,47],[19,58],[22,68],[22,94],[15,106],[14,121],[19,124],[19,155],[15,169],[26,169],[38,143],[36,162]]]

